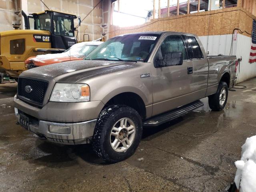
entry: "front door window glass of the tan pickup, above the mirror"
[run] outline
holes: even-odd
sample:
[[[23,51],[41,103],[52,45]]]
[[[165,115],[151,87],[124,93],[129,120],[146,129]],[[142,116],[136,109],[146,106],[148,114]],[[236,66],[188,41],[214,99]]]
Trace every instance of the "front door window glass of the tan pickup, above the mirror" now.
[[[182,52],[183,60],[188,59],[186,48],[181,36],[168,36],[164,39],[160,46],[162,56],[170,52]]]

